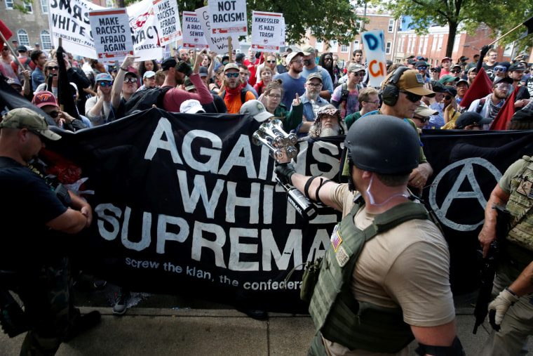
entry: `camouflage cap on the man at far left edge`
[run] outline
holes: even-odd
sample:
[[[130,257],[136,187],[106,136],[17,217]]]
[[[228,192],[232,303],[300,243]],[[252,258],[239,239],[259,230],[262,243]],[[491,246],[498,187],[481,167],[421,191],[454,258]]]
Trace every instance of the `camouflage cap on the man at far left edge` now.
[[[4,115],[0,122],[0,128],[27,128],[36,131],[48,140],[59,140],[61,136],[48,129],[48,124],[43,116],[27,107],[13,109]]]

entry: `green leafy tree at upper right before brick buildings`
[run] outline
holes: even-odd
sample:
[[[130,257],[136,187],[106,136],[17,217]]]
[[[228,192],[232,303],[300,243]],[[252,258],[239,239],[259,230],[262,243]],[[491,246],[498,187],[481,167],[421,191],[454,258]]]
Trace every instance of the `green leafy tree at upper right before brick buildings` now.
[[[449,27],[449,36],[446,55],[452,56],[455,34],[459,25],[464,26],[471,34],[484,22],[492,29],[493,36],[497,37],[499,30],[506,32],[531,15],[533,0],[496,1],[496,0],[396,0],[382,3],[382,0],[372,0],[372,4],[384,6],[396,18],[403,15],[412,16],[412,25],[417,34],[428,32],[431,25]],[[511,23],[515,25],[511,26]],[[522,31],[523,32],[523,31]],[[531,35],[530,35],[531,36]],[[513,34],[503,41],[506,44],[518,38]],[[529,44],[531,37],[529,37]]]

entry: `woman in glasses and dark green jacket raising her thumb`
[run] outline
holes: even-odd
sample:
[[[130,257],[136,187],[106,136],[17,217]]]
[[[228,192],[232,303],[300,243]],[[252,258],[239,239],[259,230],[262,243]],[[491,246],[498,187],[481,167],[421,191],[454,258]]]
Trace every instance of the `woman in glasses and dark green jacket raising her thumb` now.
[[[264,107],[274,115],[274,119],[279,119],[283,122],[283,130],[289,132],[299,124],[302,123],[304,114],[304,105],[300,103],[298,94],[292,100],[292,111],[289,112],[287,107],[281,103],[283,98],[283,81],[276,79],[263,89],[263,93],[259,95],[259,101],[263,103]]]

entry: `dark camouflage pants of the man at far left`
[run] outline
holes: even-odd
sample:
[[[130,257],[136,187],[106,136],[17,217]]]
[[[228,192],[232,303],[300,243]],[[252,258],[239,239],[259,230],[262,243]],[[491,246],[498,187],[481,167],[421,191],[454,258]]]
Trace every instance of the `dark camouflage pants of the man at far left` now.
[[[31,324],[20,355],[55,355],[69,324],[79,317],[69,287],[67,258],[41,266],[15,292],[24,303]]]

